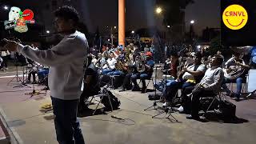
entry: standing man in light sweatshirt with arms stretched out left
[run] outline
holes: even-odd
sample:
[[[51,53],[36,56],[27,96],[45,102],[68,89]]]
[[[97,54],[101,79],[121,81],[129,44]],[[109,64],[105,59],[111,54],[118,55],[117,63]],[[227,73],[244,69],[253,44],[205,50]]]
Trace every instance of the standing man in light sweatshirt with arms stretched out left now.
[[[64,36],[57,46],[49,50],[34,50],[30,46],[6,40],[5,47],[50,66],[49,87],[57,140],[60,144],[84,144],[77,111],[88,42],[85,34],[76,30],[79,22],[77,10],[62,6],[54,12],[54,16],[58,33]]]

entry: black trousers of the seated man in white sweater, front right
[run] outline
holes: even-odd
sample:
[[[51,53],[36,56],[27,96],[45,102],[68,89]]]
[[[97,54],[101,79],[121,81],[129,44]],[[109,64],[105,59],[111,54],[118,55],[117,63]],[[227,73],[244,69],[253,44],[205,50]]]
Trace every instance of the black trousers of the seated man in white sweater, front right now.
[[[200,110],[200,98],[205,97],[214,97],[214,92],[212,90],[204,90],[204,89],[198,89],[194,90],[192,94],[192,100],[191,100],[191,115],[192,117],[198,117],[199,110]]]

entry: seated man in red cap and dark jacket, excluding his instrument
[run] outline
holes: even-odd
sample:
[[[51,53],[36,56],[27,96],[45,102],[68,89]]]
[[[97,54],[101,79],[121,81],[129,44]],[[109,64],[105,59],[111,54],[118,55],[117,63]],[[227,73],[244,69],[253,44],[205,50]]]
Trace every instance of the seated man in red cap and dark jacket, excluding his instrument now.
[[[142,93],[146,93],[146,82],[145,80],[148,78],[151,78],[154,70],[154,60],[152,57],[152,53],[147,52],[146,53],[146,62],[145,64],[145,71],[138,73],[138,74],[133,74],[130,78],[131,82],[134,83],[134,86],[132,88],[133,91],[138,91],[140,90],[138,83],[137,83],[137,79],[140,79],[142,81]]]

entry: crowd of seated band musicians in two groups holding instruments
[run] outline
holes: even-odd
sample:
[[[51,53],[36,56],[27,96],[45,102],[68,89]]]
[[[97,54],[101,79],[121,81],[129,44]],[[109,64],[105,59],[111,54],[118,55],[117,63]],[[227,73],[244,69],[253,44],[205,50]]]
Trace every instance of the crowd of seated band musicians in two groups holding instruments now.
[[[154,58],[149,49],[141,50],[134,43],[130,43],[123,50],[118,47],[107,48],[97,56],[90,53],[91,64],[95,66],[95,72],[98,70],[104,76],[121,77],[120,92],[132,90],[146,93],[145,80],[152,77]],[[156,89],[162,92],[165,101],[163,107],[172,104],[178,90],[182,91],[178,111],[191,114],[188,118],[194,119],[199,119],[199,98],[213,97],[218,95],[220,90],[224,90],[226,95],[236,101],[240,100],[242,83],[246,82],[248,70],[254,62],[246,64],[243,60],[244,54],[236,51],[233,51],[232,57],[226,62],[221,51],[214,55],[206,55],[205,50],[195,52],[191,46],[184,51],[184,54],[175,50],[170,52],[165,65],[162,66],[162,72],[168,75],[168,78],[165,79],[163,76],[162,81],[154,84]],[[142,82],[142,87],[138,86],[138,79]],[[236,82],[237,90],[229,90],[226,84],[230,82]],[[193,95],[193,98],[188,98],[188,94]]]

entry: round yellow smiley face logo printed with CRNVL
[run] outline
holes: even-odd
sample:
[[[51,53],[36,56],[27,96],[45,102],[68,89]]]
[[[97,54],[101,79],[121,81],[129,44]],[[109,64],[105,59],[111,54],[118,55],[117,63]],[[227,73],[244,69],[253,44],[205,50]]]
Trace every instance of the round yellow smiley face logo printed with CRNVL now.
[[[231,30],[240,30],[243,26],[246,26],[248,14],[242,6],[231,5],[224,10],[222,21]]]

